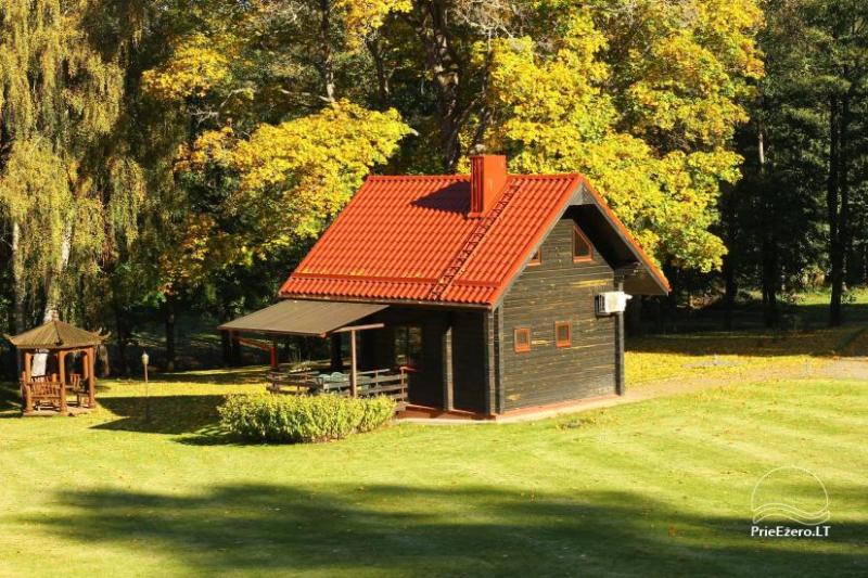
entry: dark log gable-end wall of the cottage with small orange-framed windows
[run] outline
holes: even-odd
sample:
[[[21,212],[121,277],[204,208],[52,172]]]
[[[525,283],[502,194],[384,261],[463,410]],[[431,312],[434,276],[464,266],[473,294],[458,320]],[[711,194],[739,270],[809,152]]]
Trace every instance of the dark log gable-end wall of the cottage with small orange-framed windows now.
[[[502,301],[500,388],[506,411],[615,393],[614,318],[595,314],[593,297],[614,273],[595,251],[573,262],[571,218],[542,244],[542,262],[525,268]],[[570,347],[557,347],[554,323],[569,321]],[[531,350],[515,352],[514,330],[531,329]]]

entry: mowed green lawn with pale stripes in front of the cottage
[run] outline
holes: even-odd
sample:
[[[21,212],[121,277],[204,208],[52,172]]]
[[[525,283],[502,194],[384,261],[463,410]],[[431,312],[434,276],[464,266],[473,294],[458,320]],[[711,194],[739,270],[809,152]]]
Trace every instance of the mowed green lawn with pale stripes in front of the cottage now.
[[[114,381],[88,416],[8,410],[0,575],[868,574],[863,382],[743,384],[327,445],[228,442],[220,396],[260,387],[252,371],[152,384],[151,423],[142,386]],[[829,538],[750,537],[754,485],[782,465],[826,484]]]

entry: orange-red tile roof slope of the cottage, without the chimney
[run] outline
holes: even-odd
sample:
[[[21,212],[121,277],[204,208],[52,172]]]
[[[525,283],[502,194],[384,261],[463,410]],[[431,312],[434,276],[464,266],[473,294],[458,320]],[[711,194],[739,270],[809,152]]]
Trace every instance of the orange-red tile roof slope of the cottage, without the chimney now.
[[[280,296],[493,306],[583,182],[510,175],[490,218],[469,218],[468,176],[369,177]]]

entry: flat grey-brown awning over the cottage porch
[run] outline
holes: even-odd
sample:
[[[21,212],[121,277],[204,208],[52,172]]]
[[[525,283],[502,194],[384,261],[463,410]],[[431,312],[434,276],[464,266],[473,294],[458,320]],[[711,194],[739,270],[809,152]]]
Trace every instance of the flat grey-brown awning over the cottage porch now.
[[[224,331],[273,335],[326,335],[387,305],[286,299],[219,326]]]

